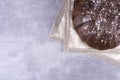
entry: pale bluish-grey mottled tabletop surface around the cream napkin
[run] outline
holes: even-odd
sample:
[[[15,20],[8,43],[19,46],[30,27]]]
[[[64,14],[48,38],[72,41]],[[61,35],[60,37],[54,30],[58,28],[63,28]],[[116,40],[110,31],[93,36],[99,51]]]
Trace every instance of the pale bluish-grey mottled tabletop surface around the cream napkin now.
[[[62,0],[0,0],[0,80],[120,80],[120,68],[65,54],[48,33]]]

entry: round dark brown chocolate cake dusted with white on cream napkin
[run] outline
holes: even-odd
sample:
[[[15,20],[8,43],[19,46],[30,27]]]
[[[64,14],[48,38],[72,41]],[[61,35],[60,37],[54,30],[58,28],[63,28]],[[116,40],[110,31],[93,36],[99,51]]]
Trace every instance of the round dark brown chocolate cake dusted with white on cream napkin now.
[[[120,44],[120,0],[74,0],[72,20],[81,40],[99,50]]]

